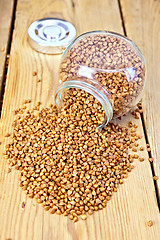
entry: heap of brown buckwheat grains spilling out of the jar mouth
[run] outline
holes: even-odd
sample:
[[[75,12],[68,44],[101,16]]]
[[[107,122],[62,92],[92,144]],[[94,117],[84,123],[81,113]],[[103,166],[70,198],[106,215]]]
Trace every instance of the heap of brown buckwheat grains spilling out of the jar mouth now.
[[[22,189],[46,211],[85,220],[106,207],[133,168],[137,126],[109,123],[98,130],[104,111],[78,89],[66,92],[61,112],[53,105],[40,109],[40,103],[29,110],[28,102],[15,111],[4,157],[19,170]]]

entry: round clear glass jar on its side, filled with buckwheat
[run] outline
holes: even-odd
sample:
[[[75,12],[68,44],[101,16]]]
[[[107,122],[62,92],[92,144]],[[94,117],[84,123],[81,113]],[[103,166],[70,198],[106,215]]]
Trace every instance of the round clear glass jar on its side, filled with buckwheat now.
[[[98,128],[131,110],[141,99],[145,61],[128,38],[108,31],[80,35],[66,48],[59,70],[55,100],[63,106],[64,91],[78,88],[93,95],[105,116]]]

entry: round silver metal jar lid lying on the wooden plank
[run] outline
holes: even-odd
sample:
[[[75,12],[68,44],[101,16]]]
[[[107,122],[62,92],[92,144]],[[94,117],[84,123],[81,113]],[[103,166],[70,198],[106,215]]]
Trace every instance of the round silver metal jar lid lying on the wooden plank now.
[[[31,47],[47,54],[62,53],[75,36],[75,27],[58,18],[39,19],[28,28],[28,41]]]

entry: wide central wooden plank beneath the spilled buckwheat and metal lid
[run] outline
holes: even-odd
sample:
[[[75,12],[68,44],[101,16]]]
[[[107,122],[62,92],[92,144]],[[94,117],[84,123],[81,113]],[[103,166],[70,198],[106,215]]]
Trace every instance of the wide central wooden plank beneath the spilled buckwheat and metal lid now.
[[[27,28],[38,18],[61,16],[76,25],[78,33],[93,29],[107,29],[122,32],[117,1],[23,1],[18,2],[16,24],[13,35],[11,59],[7,76],[6,91],[2,109],[0,153],[4,151],[11,131],[12,111],[21,106],[24,99],[32,99],[47,106],[54,101],[60,56],[47,56],[33,51],[27,43]],[[96,17],[95,17],[96,16]],[[42,80],[37,83],[32,72],[37,71]],[[132,119],[128,115],[121,124]],[[145,139],[140,140],[145,146]],[[142,153],[141,153],[142,154]],[[147,158],[147,152],[143,152]],[[28,199],[18,187],[18,172],[7,173],[6,161],[0,160],[0,239],[23,240],[69,240],[69,239],[158,239],[160,218],[148,161],[135,161],[135,169],[125,184],[119,187],[108,206],[88,217],[86,221],[71,222],[64,216],[50,215],[42,207]],[[22,201],[26,201],[24,209]],[[33,205],[35,203],[35,206]],[[153,221],[151,228],[146,221]]]

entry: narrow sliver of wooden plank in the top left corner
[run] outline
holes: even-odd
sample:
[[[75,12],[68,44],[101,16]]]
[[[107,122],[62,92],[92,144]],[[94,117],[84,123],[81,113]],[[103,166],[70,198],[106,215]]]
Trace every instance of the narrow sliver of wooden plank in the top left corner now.
[[[0,96],[2,94],[5,62],[8,50],[14,0],[0,0]]]

